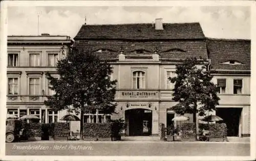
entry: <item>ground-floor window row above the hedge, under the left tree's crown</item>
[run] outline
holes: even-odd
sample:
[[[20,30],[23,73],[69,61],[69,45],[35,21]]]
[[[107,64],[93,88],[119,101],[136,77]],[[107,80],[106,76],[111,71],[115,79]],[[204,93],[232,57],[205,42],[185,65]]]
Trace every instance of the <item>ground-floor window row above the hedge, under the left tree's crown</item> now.
[[[83,122],[84,123],[107,123],[110,122],[111,115],[103,114],[101,111],[98,111],[98,120],[96,114],[84,114]]]

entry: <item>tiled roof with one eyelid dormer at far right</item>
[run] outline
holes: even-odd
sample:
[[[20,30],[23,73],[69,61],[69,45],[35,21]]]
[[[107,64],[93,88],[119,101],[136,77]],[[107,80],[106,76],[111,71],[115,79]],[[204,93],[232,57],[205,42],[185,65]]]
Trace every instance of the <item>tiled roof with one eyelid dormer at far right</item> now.
[[[206,38],[211,69],[214,70],[250,70],[250,40]],[[223,64],[236,61],[239,64]]]

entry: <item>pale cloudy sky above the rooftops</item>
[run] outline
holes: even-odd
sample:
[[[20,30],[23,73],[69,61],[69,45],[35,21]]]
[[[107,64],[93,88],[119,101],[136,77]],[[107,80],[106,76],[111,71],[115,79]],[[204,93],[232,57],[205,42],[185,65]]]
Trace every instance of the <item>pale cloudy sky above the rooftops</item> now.
[[[74,38],[81,25],[200,22],[206,37],[250,39],[250,7],[139,7],[139,6],[12,6],[7,11],[8,35],[68,35]],[[39,15],[39,25],[38,25]],[[39,28],[38,28],[39,26]]]

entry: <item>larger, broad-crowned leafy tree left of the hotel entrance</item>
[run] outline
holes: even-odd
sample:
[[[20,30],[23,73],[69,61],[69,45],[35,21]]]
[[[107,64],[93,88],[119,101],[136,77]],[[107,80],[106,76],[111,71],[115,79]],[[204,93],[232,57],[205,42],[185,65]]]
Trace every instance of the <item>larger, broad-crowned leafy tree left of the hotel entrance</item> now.
[[[57,73],[59,78],[47,73],[50,89],[55,94],[47,96],[45,104],[56,111],[68,109],[80,113],[80,138],[83,139],[85,113],[100,110],[104,114],[111,114],[115,111],[117,81],[111,81],[112,67],[96,54],[73,48],[68,57],[58,61]]]

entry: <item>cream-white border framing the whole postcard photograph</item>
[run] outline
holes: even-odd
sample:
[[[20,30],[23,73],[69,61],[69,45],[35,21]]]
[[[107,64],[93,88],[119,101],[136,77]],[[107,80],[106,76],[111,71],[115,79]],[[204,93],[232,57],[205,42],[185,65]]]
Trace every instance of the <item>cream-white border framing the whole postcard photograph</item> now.
[[[251,60],[254,59],[253,51],[256,50],[255,47],[255,2],[254,1],[2,1],[1,2],[1,55],[0,55],[0,69],[1,69],[1,79],[0,84],[6,86],[6,55],[7,53],[7,6],[251,6]],[[254,50],[253,50],[254,49]],[[254,63],[252,62],[252,72],[251,79],[255,77],[255,70],[253,70]],[[256,158],[255,155],[255,123],[256,117],[253,117],[256,113],[254,97],[255,92],[252,89],[256,89],[255,81],[251,81],[251,156],[104,156],[100,157],[100,160],[252,160]],[[6,90],[1,91],[1,123],[5,122],[6,114]],[[3,126],[1,126],[3,127]],[[252,130],[254,129],[254,130]],[[1,130],[1,158],[4,160],[71,160],[70,156],[5,156],[5,138],[4,130]],[[253,144],[252,144],[253,143]],[[3,157],[5,156],[5,157]],[[72,160],[77,159],[89,159],[89,160],[99,160],[99,156],[72,156]]]

